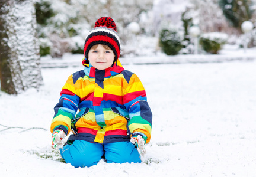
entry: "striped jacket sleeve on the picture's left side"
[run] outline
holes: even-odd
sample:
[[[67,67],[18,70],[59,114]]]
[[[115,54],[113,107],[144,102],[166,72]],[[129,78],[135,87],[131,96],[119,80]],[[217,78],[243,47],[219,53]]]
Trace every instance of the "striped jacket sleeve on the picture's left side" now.
[[[62,129],[66,135],[69,134],[71,121],[75,118],[79,101],[80,98],[76,95],[73,76],[71,75],[60,92],[59,103],[54,107],[55,115],[50,127],[51,132],[56,129]]]

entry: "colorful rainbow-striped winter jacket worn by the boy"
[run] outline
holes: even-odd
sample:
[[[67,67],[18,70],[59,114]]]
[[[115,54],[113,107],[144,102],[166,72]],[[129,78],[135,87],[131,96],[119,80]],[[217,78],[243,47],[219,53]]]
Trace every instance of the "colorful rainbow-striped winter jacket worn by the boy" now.
[[[129,141],[132,133],[140,132],[148,143],[152,113],[136,74],[124,70],[119,60],[106,70],[84,65],[62,88],[51,132],[62,129],[68,135],[72,130],[68,142],[96,143]]]

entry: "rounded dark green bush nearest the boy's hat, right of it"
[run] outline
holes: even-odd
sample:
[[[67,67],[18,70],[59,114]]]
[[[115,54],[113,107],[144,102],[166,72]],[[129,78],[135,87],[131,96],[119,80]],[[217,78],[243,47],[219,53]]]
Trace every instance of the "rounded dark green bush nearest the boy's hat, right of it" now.
[[[160,31],[159,45],[167,55],[177,55],[183,45],[180,34],[174,27],[164,27]]]

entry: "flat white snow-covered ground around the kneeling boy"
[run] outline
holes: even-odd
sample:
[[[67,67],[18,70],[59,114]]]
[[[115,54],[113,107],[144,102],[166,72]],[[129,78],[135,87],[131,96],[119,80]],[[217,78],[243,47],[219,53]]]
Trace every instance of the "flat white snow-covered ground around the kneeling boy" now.
[[[256,61],[124,67],[153,112],[143,163],[63,163],[50,146],[53,107],[82,65],[43,68],[40,91],[0,91],[0,176],[256,176]]]

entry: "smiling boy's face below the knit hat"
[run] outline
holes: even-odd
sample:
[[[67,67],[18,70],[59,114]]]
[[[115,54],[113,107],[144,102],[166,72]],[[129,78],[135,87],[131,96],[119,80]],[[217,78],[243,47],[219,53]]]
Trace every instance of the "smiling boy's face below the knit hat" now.
[[[111,67],[114,57],[113,51],[111,49],[105,49],[101,44],[97,48],[91,48],[88,53],[89,62],[98,70],[105,70]]]

